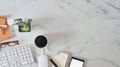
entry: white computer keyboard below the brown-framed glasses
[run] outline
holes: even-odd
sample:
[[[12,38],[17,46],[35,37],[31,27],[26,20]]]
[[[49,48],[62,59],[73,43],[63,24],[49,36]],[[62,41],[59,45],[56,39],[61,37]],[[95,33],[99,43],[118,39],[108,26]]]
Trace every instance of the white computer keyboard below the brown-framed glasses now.
[[[0,67],[20,67],[33,62],[29,45],[15,46],[0,51]]]

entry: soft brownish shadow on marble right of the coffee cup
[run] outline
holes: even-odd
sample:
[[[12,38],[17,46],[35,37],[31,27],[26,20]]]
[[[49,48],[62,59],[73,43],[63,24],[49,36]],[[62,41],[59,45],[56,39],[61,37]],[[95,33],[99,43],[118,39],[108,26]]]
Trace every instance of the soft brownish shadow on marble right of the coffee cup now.
[[[74,35],[74,32],[66,31],[66,32],[57,32],[57,33],[51,33],[51,34],[49,33],[45,35],[48,38],[48,48],[49,48],[49,46],[51,46],[53,43],[59,40],[64,40],[68,42],[69,39],[73,37],[72,35]]]

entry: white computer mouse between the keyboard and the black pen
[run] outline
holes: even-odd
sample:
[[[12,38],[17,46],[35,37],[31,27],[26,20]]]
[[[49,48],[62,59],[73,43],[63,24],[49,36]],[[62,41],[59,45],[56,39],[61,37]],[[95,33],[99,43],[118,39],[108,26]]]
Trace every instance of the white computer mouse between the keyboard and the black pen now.
[[[48,57],[46,55],[38,57],[38,67],[48,67]]]

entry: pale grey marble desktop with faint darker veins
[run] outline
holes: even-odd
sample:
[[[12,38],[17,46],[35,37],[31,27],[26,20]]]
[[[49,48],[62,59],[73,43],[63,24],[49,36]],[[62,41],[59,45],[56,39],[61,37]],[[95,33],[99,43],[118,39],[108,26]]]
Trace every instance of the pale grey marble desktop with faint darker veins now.
[[[120,0],[0,0],[0,15],[32,18],[32,32],[10,40],[34,46],[48,37],[46,53],[65,51],[85,67],[120,67]]]

